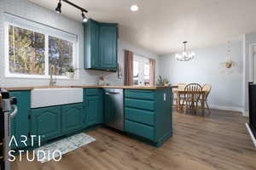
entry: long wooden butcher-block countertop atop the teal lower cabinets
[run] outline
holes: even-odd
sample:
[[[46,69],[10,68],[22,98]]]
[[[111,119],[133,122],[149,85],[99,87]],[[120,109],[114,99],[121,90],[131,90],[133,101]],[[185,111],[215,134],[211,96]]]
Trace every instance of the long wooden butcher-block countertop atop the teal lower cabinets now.
[[[25,91],[25,90],[32,90],[35,88],[124,88],[124,89],[148,89],[148,90],[155,90],[155,89],[163,89],[163,88],[177,88],[177,86],[99,86],[99,85],[81,85],[81,86],[32,86],[32,87],[12,87],[12,88],[4,88],[9,91]]]

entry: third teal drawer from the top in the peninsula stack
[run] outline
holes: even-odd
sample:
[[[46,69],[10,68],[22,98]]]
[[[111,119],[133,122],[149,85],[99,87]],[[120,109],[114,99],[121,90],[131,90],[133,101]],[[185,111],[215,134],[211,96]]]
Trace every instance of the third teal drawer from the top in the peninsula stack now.
[[[154,112],[125,108],[125,119],[154,126]]]

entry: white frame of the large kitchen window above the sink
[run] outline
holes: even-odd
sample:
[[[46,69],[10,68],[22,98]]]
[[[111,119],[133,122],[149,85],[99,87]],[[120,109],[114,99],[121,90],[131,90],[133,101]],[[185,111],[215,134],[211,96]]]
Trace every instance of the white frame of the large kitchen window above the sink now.
[[[20,19],[21,20],[21,19]],[[38,24],[40,25],[40,24]],[[26,29],[28,31],[35,31],[40,34],[44,34],[44,63],[45,63],[45,72],[44,75],[27,75],[27,74],[18,74],[18,73],[10,73],[9,71],[9,26],[19,27],[21,29]],[[31,28],[33,27],[33,29]],[[52,28],[51,28],[52,29]],[[58,30],[56,30],[58,31]],[[73,41],[66,37],[56,36],[53,33],[46,33],[47,31],[42,31],[41,29],[37,29],[36,26],[21,26],[19,24],[9,22],[7,20],[4,21],[4,77],[6,78],[39,78],[39,79],[49,79],[49,36],[60,38],[61,40],[66,40],[68,42],[73,43],[73,58],[72,65],[74,68],[77,67],[79,63],[79,41]],[[69,79],[67,76],[56,76],[57,79]],[[76,74],[76,77],[79,79],[79,74]]]

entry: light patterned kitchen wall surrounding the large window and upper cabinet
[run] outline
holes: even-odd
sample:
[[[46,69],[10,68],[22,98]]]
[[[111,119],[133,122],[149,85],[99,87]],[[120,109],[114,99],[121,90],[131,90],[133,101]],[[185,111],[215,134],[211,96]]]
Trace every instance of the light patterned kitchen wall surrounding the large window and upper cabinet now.
[[[47,26],[52,26],[63,31],[71,32],[79,36],[79,68],[84,68],[84,31],[82,23],[70,20],[61,14],[55,14],[54,9],[42,8],[37,4],[27,0],[0,0],[0,87],[17,86],[44,86],[49,84],[48,79],[28,79],[28,78],[6,78],[4,77],[4,12],[16,14],[28,20],[34,20]],[[120,37],[121,38],[121,37]],[[145,50],[133,47],[127,42],[119,41],[119,63],[124,65],[123,49],[130,49],[136,54],[142,54],[150,58],[157,59],[157,55],[150,54]],[[111,84],[123,84],[123,80],[117,80],[117,73],[107,73],[104,71],[79,71],[79,79],[57,80],[57,85],[94,85],[98,82],[100,75],[106,75]]]

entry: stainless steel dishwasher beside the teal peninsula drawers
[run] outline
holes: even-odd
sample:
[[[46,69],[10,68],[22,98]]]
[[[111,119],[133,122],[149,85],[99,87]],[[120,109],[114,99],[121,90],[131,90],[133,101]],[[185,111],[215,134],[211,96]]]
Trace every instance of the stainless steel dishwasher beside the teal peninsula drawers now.
[[[104,88],[105,125],[124,131],[124,89]]]

